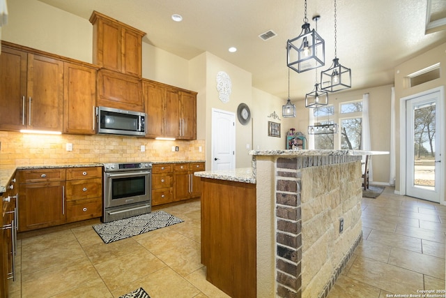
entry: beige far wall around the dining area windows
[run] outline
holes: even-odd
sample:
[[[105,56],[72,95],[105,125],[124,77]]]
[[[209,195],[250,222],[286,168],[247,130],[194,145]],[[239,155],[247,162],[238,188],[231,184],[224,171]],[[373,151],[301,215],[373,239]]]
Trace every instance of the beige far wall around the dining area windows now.
[[[371,135],[371,150],[390,151],[390,106],[392,85],[374,87],[362,90],[344,91],[329,94],[329,103],[339,105],[351,100],[362,99],[363,94],[369,94],[369,123]],[[295,103],[296,118],[293,120],[297,131],[307,135],[309,109],[303,100]],[[340,137],[339,133],[337,137]],[[307,135],[307,139],[311,142]],[[390,155],[377,155],[371,158],[373,167],[373,182],[375,184],[389,184]]]

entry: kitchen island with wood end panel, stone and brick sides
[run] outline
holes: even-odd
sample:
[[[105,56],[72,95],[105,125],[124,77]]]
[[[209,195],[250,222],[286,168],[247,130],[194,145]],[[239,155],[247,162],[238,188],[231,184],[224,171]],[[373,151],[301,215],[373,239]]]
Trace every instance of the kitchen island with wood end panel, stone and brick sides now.
[[[388,152],[249,154],[249,169],[195,173],[208,281],[231,297],[326,297],[362,239],[362,156]]]

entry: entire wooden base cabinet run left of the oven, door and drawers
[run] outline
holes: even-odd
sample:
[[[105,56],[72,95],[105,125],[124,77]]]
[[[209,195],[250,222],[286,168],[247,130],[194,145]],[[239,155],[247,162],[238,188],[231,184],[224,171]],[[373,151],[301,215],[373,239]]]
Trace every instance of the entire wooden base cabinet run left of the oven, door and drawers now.
[[[19,232],[102,215],[102,168],[19,170]]]

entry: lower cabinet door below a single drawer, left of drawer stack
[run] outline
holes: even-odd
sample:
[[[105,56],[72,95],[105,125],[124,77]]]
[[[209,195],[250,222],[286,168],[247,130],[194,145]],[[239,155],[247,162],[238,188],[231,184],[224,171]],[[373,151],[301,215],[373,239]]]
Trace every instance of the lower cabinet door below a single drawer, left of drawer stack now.
[[[20,232],[65,223],[65,182],[20,184]]]

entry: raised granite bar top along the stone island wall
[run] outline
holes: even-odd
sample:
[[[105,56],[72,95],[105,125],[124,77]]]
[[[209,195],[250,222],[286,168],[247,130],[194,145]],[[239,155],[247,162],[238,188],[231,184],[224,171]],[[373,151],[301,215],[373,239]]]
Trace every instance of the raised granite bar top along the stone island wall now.
[[[299,149],[299,150],[251,150],[252,156],[354,156],[354,155],[383,155],[389,154],[389,151],[372,150],[330,150],[330,149]]]

